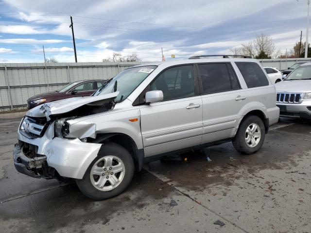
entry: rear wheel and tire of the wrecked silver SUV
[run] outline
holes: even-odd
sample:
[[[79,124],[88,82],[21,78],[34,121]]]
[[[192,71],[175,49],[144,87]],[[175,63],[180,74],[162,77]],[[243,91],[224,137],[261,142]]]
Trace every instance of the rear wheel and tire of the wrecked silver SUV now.
[[[260,130],[260,132],[256,130],[256,134],[254,133],[253,135],[254,138],[252,138],[252,136],[248,132],[246,132],[246,130],[248,130],[248,127],[250,127],[249,129],[254,129],[251,127],[252,125],[257,125]],[[264,142],[264,137],[265,128],[262,120],[258,116],[250,115],[246,116],[246,118],[242,120],[238,132],[232,139],[232,144],[234,148],[241,153],[253,154],[261,148]],[[249,143],[247,143],[246,140],[249,140]]]

